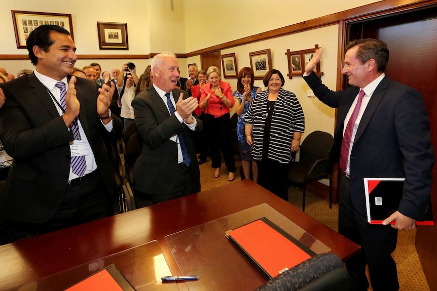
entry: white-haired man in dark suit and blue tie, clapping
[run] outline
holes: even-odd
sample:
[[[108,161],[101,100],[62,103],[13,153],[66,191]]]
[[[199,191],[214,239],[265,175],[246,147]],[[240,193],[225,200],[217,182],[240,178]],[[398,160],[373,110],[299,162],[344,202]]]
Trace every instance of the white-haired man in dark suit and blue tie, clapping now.
[[[153,86],[132,101],[144,141],[135,188],[159,203],[200,191],[193,132],[202,130],[202,121],[193,117],[197,99],[176,88],[176,56],[156,55],[151,67]]]

